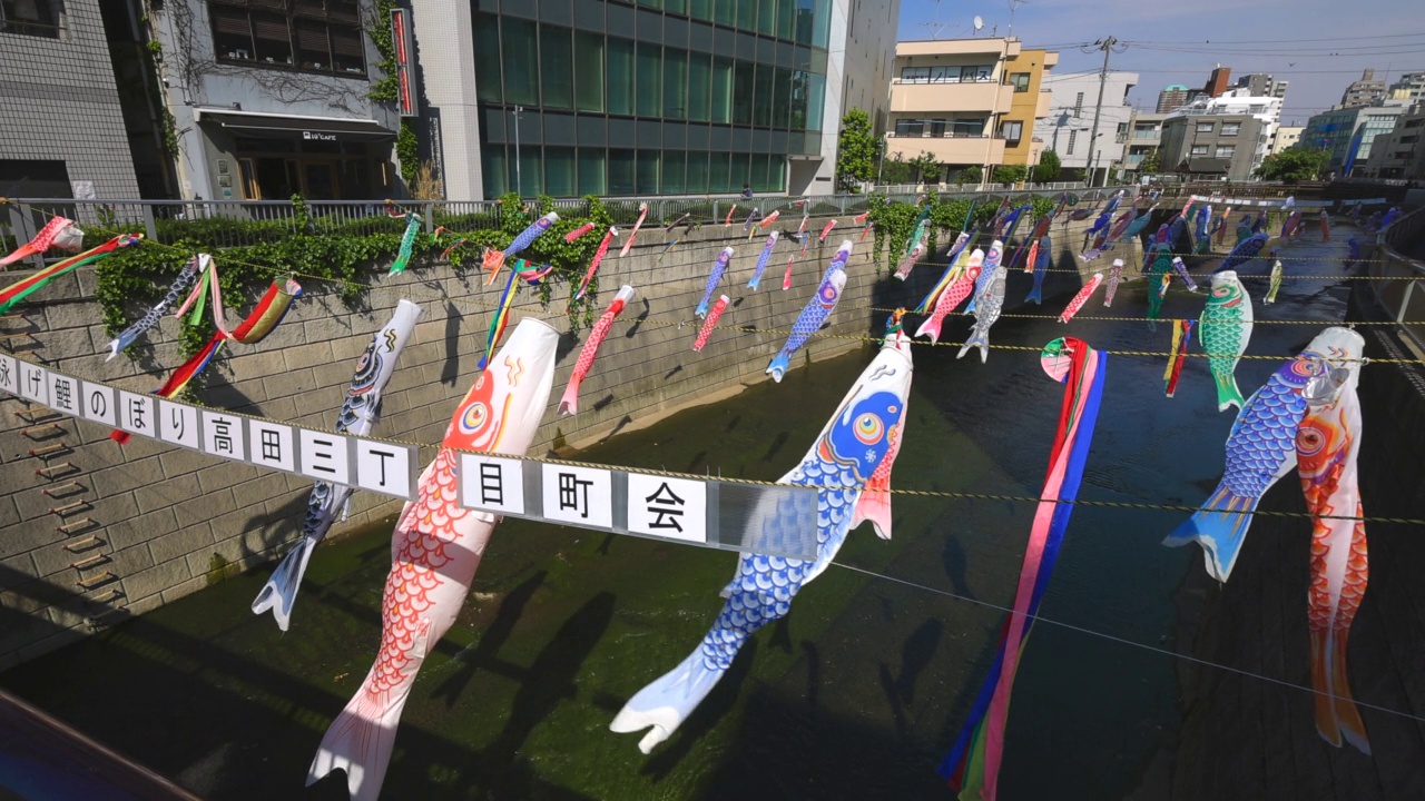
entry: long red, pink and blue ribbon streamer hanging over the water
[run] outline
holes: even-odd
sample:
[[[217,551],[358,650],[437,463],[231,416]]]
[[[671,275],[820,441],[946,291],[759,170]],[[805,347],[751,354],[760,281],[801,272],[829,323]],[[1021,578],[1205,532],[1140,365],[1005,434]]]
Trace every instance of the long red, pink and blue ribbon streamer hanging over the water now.
[[[970,715],[939,767],[940,777],[959,791],[962,801],[973,798],[995,801],[1005,750],[1009,697],[1019,657],[1054,563],[1059,560],[1069,517],[1073,515],[1073,503],[1059,502],[1073,502],[1079,496],[1103,400],[1107,355],[1080,339],[1066,336],[1046,345],[1040,361],[1050,378],[1066,383],[1059,410],[1059,430],[1050,449],[1045,489],[1040,492],[1045,500],[1035,513],[1029,544],[1025,549],[1013,611],[1000,631],[999,651]]]

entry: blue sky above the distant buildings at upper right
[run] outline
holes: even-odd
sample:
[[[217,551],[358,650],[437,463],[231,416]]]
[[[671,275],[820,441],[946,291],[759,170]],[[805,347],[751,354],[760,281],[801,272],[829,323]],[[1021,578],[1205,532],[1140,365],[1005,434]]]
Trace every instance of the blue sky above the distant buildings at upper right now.
[[[1009,3],[901,0],[898,37],[966,37],[975,14],[985,19],[982,34],[998,26],[1003,36]],[[1305,124],[1314,111],[1340,103],[1365,67],[1387,81],[1425,71],[1421,0],[1029,0],[1015,13],[1015,36],[1027,47],[1054,46],[1062,73],[1097,70],[1103,53],[1083,54],[1074,43],[1109,34],[1130,43],[1113,54],[1110,68],[1139,73],[1129,98],[1150,111],[1161,88],[1201,87],[1218,64],[1234,77],[1271,73],[1291,81],[1287,124]]]

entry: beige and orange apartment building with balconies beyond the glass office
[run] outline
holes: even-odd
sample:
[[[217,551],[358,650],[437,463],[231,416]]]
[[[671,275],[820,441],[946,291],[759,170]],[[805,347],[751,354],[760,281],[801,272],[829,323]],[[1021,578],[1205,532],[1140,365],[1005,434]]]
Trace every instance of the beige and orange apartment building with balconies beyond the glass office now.
[[[1057,53],[1025,50],[1017,38],[898,41],[886,155],[931,153],[952,172],[1025,164],[1033,121],[1049,114],[1040,81],[1057,63]]]

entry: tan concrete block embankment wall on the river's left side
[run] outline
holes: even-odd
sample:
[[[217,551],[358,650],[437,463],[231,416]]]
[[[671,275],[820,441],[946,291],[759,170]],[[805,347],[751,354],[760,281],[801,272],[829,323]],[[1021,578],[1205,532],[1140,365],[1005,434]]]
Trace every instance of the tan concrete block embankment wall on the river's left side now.
[[[814,219],[809,229],[819,231],[824,224]],[[1064,272],[1050,274],[1046,298],[1077,289],[1070,248],[1082,242],[1086,225],[1054,227],[1056,261]],[[782,274],[797,248],[791,242],[777,247],[761,291],[754,294],[747,282],[762,235],[748,242],[738,225],[704,227],[661,261],[668,242],[661,229],[641,232],[626,258],[611,252],[600,268],[600,311],[621,284],[636,286],[638,296],[600,348],[574,418],[556,418],[556,408],[587,331],[564,336],[550,406],[532,453],[590,443],[765,379],[768,361],[848,232],[856,238],[859,229],[842,225],[825,244],[812,242],[807,257],[795,262],[792,288],[785,292]],[[932,261],[943,261],[945,242],[952,238],[942,234],[939,259]],[[878,274],[872,241],[866,237],[852,251],[839,309],[824,331],[834,336],[812,338],[792,359],[792,369],[804,359],[866,346],[864,338],[884,331],[886,318],[874,306],[915,305],[939,277],[939,267],[919,267],[906,284],[892,281],[885,271]],[[712,261],[727,245],[737,257],[718,292],[730,295],[734,305],[721,325],[757,331],[715,331],[698,353],[693,351],[698,331],[693,309]],[[219,269],[221,262],[218,254]],[[329,284],[308,282],[306,295],[265,341],[225,349],[208,368],[198,399],[239,413],[328,428],[358,355],[396,302],[409,298],[420,304],[423,315],[386,389],[375,435],[437,443],[473,382],[503,275],[497,285],[484,286],[475,271],[462,274],[418,258],[405,275],[373,269],[369,281],[373,288],[359,309],[343,305]],[[1007,309],[1017,308],[1027,285],[1027,275],[1012,275]],[[51,282],[14,309],[17,316],[0,321],[0,335],[7,336],[3,342],[17,356],[60,372],[135,392],[155,389],[182,361],[177,325],[164,321],[141,339],[131,349],[137,359],[104,362],[98,353],[108,335],[94,289],[90,269]],[[536,291],[520,289],[510,325],[526,315],[559,318],[567,294],[567,286],[557,286],[546,311]],[[229,305],[245,312],[251,301],[229,298]],[[1062,301],[1049,305],[1057,311]],[[131,311],[137,315],[142,309]],[[569,328],[563,319],[553,322],[560,331]],[[960,338],[963,329],[963,322],[952,318],[943,338]],[[788,413],[795,413],[792,398]],[[311,480],[142,438],[120,446],[107,429],[13,398],[0,400],[0,668],[269,560],[301,530]],[[423,462],[432,456],[433,448],[422,449]],[[399,509],[396,500],[356,493],[351,517],[333,533]]]

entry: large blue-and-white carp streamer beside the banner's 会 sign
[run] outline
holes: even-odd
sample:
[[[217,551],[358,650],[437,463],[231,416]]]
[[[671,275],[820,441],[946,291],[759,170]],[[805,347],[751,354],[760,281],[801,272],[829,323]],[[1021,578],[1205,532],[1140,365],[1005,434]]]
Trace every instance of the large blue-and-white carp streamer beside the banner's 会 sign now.
[[[737,651],[762,626],[785,616],[804,584],[831,564],[852,523],[876,492],[862,492],[872,476],[886,476],[905,438],[911,392],[909,339],[893,329],[862,371],[807,456],[779,483],[817,487],[817,559],[744,553],[722,590],[727,603],[703,643],[683,663],[640,690],[608,728],[648,728],[638,748],[647,754],[667,740],[727,673]]]

